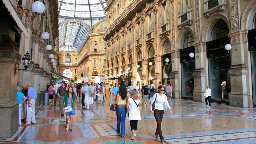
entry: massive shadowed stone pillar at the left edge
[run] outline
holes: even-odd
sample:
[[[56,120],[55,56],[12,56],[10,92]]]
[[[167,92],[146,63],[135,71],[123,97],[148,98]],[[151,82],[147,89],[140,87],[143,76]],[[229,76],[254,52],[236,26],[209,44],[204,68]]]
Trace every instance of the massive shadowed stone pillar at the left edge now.
[[[15,31],[18,29],[9,20],[1,19],[1,43],[0,43],[0,77],[2,86],[0,90],[0,138],[9,138],[18,130],[19,102],[17,101],[18,75],[14,74],[14,68],[21,63],[19,49],[15,47]],[[2,29],[3,28],[3,29]],[[14,31],[15,30],[15,31]],[[1,32],[0,31],[0,32]],[[17,72],[17,71],[16,71]],[[7,90],[6,90],[7,89]]]

